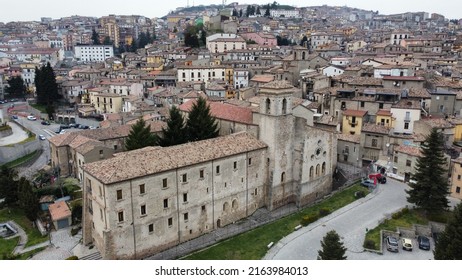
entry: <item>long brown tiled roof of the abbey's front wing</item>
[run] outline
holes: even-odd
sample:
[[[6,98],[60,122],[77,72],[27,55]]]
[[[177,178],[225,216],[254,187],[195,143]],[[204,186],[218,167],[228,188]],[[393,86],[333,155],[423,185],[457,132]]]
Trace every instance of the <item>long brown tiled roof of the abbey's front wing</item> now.
[[[86,164],[84,170],[103,184],[112,184],[266,147],[241,132],[166,148],[147,147],[120,153],[108,160]]]

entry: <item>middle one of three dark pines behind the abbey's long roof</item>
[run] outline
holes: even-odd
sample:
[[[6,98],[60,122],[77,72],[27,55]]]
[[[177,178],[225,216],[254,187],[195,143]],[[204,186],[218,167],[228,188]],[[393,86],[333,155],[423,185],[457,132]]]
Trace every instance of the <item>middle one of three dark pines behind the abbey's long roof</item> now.
[[[186,137],[185,121],[180,110],[173,106],[170,109],[170,117],[167,120],[167,128],[162,128],[162,137],[158,137],[158,144],[162,147],[184,144],[188,142]]]

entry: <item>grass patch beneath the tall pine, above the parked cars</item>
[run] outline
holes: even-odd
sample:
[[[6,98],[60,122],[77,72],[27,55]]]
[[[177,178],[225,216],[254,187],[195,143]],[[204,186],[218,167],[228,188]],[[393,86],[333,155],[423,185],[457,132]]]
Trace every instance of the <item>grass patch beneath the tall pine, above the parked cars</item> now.
[[[395,217],[369,230],[366,234],[364,243],[366,243],[367,240],[372,240],[374,242],[374,248],[371,249],[380,250],[381,230],[396,231],[397,227],[410,228],[413,224],[427,225],[429,221],[445,222],[449,215],[450,212],[445,212],[427,217],[422,210],[410,209],[409,211],[404,211],[402,215],[394,215]]]

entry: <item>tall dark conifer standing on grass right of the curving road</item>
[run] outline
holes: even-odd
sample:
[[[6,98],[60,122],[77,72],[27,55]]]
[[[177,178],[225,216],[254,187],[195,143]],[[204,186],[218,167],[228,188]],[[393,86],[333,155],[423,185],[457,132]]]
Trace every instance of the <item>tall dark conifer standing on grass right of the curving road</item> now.
[[[422,157],[417,159],[416,172],[411,176],[407,201],[434,213],[448,208],[448,181],[445,168],[444,140],[441,133],[433,129],[421,146]]]

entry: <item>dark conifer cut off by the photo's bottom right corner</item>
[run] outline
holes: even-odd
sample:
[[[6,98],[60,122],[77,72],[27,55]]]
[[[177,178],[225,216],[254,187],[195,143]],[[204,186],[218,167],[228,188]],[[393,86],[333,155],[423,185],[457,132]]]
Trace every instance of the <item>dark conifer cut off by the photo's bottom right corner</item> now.
[[[445,230],[438,236],[435,260],[462,260],[462,203],[456,206]]]

